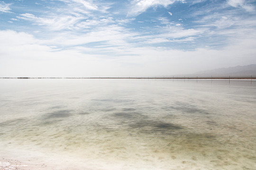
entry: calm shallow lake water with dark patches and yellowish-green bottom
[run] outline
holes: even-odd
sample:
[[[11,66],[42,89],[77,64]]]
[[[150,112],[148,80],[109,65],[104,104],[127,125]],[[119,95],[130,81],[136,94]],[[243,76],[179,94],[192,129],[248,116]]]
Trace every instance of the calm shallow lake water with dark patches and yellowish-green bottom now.
[[[0,161],[24,170],[256,170],[256,82],[0,79]]]

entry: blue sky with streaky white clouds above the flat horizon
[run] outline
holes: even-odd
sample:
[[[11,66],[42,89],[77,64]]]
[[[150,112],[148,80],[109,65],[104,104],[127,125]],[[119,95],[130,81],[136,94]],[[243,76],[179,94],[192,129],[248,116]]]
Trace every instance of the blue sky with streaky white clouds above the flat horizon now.
[[[256,64],[256,0],[0,0],[0,77],[173,76]]]

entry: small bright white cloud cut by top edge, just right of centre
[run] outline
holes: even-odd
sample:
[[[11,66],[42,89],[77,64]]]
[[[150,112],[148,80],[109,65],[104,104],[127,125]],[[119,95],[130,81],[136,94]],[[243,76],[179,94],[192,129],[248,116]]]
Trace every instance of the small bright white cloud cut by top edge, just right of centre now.
[[[148,8],[152,7],[164,6],[167,8],[175,1],[183,0],[132,0],[130,10],[128,11],[128,16],[137,16],[145,12]]]

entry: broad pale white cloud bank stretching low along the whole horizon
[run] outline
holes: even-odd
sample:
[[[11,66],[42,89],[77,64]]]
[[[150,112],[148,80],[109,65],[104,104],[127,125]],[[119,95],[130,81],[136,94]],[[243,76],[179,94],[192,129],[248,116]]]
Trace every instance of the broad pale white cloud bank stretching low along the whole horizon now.
[[[111,29],[106,30],[107,36],[115,35],[121,28]],[[98,33],[98,38],[103,34],[102,30]],[[217,67],[247,65],[248,62],[256,63],[254,38],[234,42],[232,46],[222,50],[201,48],[182,51],[126,45],[123,48],[102,47],[103,51],[118,52],[119,55],[113,58],[108,53],[96,54],[95,51],[101,48],[76,47],[72,50],[55,51],[50,46],[43,45],[45,41],[23,32],[0,31],[0,37],[0,77],[172,76]],[[113,40],[121,38],[125,36],[119,34]],[[85,51],[92,51],[93,54],[84,53]],[[244,56],[247,56],[246,60]]]

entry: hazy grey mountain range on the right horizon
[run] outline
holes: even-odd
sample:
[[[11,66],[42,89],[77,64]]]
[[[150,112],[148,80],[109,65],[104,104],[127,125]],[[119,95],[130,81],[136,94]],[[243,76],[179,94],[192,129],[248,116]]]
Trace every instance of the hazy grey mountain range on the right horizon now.
[[[212,70],[199,71],[187,75],[187,77],[250,77],[256,76],[256,64],[247,66],[236,66],[230,68],[217,68]]]

